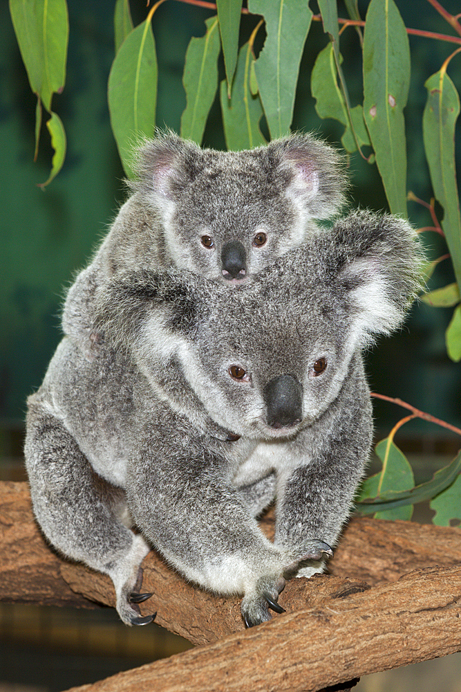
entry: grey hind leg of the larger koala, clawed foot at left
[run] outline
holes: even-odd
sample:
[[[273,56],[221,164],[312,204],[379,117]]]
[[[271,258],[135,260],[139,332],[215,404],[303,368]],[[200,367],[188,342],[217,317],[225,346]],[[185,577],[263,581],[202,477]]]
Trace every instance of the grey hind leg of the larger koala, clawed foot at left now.
[[[32,401],[31,401],[32,399]],[[127,625],[143,625],[138,605],[140,564],[149,552],[142,536],[126,527],[124,491],[95,473],[77,442],[48,406],[29,399],[26,467],[37,521],[64,556],[108,574],[117,611]]]

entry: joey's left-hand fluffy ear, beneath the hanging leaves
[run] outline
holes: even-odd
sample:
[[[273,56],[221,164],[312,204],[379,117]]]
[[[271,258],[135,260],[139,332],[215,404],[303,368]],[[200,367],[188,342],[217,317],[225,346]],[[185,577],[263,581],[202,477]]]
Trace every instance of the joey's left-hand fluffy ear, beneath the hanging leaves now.
[[[134,190],[173,199],[177,190],[194,179],[200,154],[196,143],[180,138],[173,131],[160,133],[138,149],[135,163],[138,180],[130,185]]]

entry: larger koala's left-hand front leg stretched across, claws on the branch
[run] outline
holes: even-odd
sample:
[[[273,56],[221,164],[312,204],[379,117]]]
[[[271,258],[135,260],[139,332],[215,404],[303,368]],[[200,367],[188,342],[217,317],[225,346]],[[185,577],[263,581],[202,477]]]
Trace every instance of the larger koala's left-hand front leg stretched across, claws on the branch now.
[[[171,565],[214,593],[243,594],[243,617],[253,625],[270,619],[268,608],[280,610],[287,558],[232,484],[226,444],[160,421],[129,468],[127,500],[135,524]]]

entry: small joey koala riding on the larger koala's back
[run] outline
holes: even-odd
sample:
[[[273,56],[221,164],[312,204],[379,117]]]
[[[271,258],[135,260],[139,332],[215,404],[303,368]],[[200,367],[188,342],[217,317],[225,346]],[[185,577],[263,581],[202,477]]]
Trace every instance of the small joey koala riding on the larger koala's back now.
[[[310,134],[242,152],[200,149],[167,133],[137,154],[137,181],[93,262],[68,292],[64,333],[86,338],[95,294],[125,271],[188,269],[238,286],[316,232],[344,204],[339,153]]]

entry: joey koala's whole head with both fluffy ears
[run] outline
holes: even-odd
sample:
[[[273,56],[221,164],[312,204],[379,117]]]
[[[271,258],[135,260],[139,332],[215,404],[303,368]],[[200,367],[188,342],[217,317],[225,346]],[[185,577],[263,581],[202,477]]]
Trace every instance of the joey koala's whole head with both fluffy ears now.
[[[301,244],[346,188],[339,154],[310,135],[216,152],[169,134],[144,145],[138,174],[174,266],[227,285]]]

